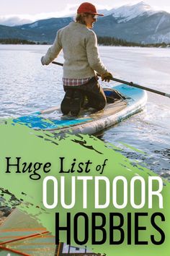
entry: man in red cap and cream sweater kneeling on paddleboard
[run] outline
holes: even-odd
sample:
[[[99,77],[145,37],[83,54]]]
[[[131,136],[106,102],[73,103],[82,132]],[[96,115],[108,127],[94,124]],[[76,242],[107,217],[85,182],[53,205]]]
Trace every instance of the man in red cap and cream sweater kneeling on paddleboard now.
[[[71,111],[77,116],[84,102],[88,99],[88,106],[102,110],[106,105],[104,91],[97,82],[97,74],[102,81],[109,82],[112,74],[99,58],[97,36],[91,30],[98,14],[93,4],[84,2],[77,9],[76,21],[58,30],[57,36],[45,56],[42,64],[48,65],[63,49],[63,88],[66,92],[61,103],[61,111],[68,114]]]

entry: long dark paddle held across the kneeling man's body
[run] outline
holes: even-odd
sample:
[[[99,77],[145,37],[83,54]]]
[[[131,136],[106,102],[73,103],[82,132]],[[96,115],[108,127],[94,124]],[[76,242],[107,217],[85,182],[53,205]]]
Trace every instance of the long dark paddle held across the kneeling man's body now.
[[[56,65],[59,65],[59,66],[63,66],[63,64],[60,63],[60,62],[53,61],[52,63],[56,64]],[[97,74],[97,76],[100,77],[100,74]],[[130,85],[130,86],[133,86],[135,88],[140,88],[140,89],[143,89],[143,90],[148,90],[151,93],[157,93],[157,94],[160,94],[160,95],[163,95],[163,96],[166,96],[166,97],[170,98],[170,94],[169,93],[163,93],[160,90],[153,90],[151,88],[144,87],[142,85],[137,85],[137,84],[134,84],[133,82],[127,82],[127,81],[124,81],[124,80],[120,80],[120,79],[117,79],[117,78],[114,78],[114,77],[110,78],[110,80],[113,80],[113,81],[116,81],[116,82],[121,82],[121,83],[123,83],[125,85]]]

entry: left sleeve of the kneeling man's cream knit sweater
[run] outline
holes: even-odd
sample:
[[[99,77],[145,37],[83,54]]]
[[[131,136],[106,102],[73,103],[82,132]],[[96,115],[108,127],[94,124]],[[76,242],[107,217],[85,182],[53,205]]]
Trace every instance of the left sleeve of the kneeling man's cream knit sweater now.
[[[60,54],[61,52],[61,49],[62,49],[62,46],[61,46],[59,31],[58,31],[55,41],[53,43],[53,46],[48,48],[47,53],[43,57],[44,64],[48,65],[50,64],[51,61],[53,61],[53,59],[57,58],[58,54]]]

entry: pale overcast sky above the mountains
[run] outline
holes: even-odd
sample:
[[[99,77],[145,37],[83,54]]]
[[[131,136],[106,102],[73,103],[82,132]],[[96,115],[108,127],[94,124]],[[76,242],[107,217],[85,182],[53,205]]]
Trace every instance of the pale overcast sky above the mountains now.
[[[86,1],[86,0],[85,0]],[[87,0],[88,1],[88,0]],[[140,0],[94,0],[90,1],[97,6],[97,9],[112,9],[124,4],[136,4]],[[22,15],[25,19],[43,19],[49,17],[62,17],[69,13],[74,13],[84,1],[79,0],[0,0],[0,17],[10,17]],[[164,9],[170,12],[169,0],[146,0],[147,4],[157,9]]]

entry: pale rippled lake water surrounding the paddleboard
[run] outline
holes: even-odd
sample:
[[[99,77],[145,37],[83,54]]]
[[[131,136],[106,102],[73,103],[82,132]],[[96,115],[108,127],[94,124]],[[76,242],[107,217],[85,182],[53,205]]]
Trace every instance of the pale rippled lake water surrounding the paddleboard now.
[[[62,68],[42,66],[49,46],[0,45],[0,118],[21,116],[59,105]],[[99,53],[115,77],[170,93],[170,49],[100,46]],[[57,61],[63,62],[63,56]],[[106,87],[116,85],[101,82]],[[146,108],[98,135],[122,153],[162,176],[170,177],[170,99],[148,93]],[[135,152],[130,147],[143,150]]]

